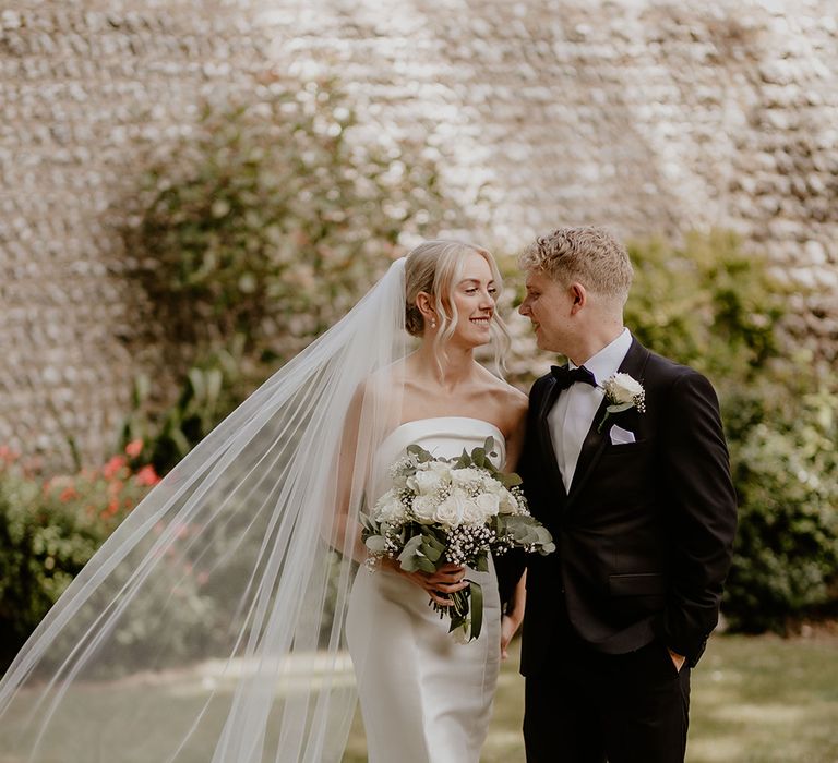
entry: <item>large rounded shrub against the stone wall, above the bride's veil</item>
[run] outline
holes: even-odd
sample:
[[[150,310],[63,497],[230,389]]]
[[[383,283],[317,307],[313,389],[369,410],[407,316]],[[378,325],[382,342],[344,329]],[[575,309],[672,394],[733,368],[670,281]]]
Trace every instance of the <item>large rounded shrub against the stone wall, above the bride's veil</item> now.
[[[287,358],[343,316],[406,234],[457,219],[427,145],[360,124],[331,81],[207,104],[153,167],[137,274],[175,338]]]

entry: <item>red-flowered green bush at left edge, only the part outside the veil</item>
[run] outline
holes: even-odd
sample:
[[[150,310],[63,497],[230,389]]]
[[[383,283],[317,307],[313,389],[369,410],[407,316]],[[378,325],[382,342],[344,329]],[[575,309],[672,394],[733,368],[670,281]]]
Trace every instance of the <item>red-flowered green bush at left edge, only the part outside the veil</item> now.
[[[158,476],[135,460],[141,448],[104,467],[46,479],[0,449],[0,662],[35,626]]]

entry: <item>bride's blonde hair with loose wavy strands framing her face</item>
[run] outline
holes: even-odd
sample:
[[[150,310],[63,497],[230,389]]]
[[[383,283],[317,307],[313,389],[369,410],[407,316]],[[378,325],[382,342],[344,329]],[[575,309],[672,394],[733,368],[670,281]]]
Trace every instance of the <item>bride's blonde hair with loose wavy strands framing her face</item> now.
[[[440,322],[440,330],[434,338],[434,354],[440,362],[445,356],[445,346],[451,341],[457,326],[457,307],[454,304],[454,289],[463,277],[466,257],[479,254],[489,265],[494,284],[500,296],[503,279],[491,253],[481,246],[460,241],[436,239],[426,241],[412,249],[405,263],[405,328],[414,337],[424,334],[424,316],[416,305],[420,292],[430,294]],[[495,311],[490,324],[494,361],[499,371],[504,367],[505,354],[511,346],[506,324]]]

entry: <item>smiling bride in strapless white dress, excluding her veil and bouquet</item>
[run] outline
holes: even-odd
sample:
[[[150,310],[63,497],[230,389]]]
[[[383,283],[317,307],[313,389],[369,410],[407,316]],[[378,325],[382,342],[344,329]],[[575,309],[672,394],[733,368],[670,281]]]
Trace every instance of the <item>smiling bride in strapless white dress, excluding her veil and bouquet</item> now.
[[[408,256],[407,329],[421,344],[393,372],[403,395],[400,423],[379,447],[376,472],[410,444],[452,457],[487,436],[514,463],[527,399],[474,359],[474,350],[490,341],[493,323],[503,326],[494,314],[499,288],[486,250],[432,241]],[[385,395],[392,386],[385,385]],[[379,484],[374,495],[386,488]],[[363,556],[360,550],[358,558]],[[407,573],[387,562],[380,572],[356,577],[347,621],[369,759],[477,763],[501,651],[523,615],[522,597],[502,626],[493,570],[470,570],[487,591],[486,627],[475,641],[458,644],[428,602],[450,604],[445,594],[465,588],[466,570],[448,565],[435,574]]]

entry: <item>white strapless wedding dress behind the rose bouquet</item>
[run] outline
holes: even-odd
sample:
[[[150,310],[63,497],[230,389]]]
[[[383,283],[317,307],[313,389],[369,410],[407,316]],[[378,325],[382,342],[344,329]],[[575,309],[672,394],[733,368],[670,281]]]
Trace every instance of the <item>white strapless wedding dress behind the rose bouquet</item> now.
[[[396,427],[376,453],[375,496],[387,487],[387,468],[418,444],[450,458],[496,443],[489,422],[464,416],[421,419]],[[385,570],[358,571],[347,615],[347,640],[355,665],[370,763],[478,763],[492,711],[500,668],[501,609],[498,581],[469,570],[482,585],[483,628],[468,644],[448,633],[450,620],[428,606],[428,594]]]

